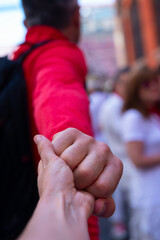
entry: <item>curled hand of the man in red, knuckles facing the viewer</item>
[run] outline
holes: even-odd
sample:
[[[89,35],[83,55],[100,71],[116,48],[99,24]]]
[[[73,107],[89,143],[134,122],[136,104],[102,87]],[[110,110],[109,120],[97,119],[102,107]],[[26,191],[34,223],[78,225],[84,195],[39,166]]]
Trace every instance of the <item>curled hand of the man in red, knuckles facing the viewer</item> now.
[[[122,175],[121,161],[105,143],[74,128],[56,134],[52,145],[73,171],[75,187],[95,197],[94,214],[111,216],[115,209],[111,195]]]

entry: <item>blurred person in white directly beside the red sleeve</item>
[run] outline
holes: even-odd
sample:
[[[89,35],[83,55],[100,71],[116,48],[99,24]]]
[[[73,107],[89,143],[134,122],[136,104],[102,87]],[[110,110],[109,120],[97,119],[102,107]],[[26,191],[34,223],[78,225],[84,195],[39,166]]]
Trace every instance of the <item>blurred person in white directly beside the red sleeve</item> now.
[[[92,127],[94,132],[94,138],[97,141],[106,142],[105,134],[100,129],[99,123],[98,123],[98,116],[100,108],[103,104],[103,102],[108,99],[109,92],[105,90],[105,83],[106,80],[93,80],[89,79],[87,81],[87,89],[89,92],[89,110],[90,110],[90,116],[92,121]]]

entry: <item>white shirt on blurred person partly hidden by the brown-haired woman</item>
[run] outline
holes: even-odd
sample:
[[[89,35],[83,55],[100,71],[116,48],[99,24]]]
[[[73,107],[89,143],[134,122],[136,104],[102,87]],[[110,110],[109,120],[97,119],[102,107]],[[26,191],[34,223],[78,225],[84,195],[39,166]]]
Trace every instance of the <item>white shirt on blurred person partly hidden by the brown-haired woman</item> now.
[[[126,147],[123,141],[122,106],[123,99],[116,93],[111,94],[100,109],[99,124],[106,135],[106,143],[111,151],[124,163],[121,184],[124,187],[128,187],[132,167],[130,166],[130,161],[128,161]]]

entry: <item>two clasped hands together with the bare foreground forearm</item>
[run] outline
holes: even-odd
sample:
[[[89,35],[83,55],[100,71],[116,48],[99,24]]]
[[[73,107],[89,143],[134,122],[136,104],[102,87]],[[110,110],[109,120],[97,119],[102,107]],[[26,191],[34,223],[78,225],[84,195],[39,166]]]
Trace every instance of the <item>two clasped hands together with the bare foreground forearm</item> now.
[[[87,219],[93,211],[103,217],[114,212],[111,194],[122,163],[105,144],[76,129],[56,134],[52,144],[43,136],[35,140],[40,200],[18,240],[89,240]]]

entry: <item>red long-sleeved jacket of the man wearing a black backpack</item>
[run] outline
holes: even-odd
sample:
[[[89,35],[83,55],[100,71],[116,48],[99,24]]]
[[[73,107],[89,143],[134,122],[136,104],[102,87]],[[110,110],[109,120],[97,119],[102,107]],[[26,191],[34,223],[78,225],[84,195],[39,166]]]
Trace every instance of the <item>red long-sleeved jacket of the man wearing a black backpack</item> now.
[[[49,39],[53,41],[34,50],[23,64],[32,136],[40,133],[51,140],[55,133],[68,127],[92,135],[89,102],[84,90],[87,68],[75,44],[54,28],[35,26],[28,30],[25,43],[13,59],[31,44]],[[35,155],[35,159],[37,164],[39,156]],[[92,240],[98,239],[94,216],[89,219],[89,232]]]

